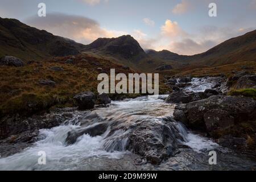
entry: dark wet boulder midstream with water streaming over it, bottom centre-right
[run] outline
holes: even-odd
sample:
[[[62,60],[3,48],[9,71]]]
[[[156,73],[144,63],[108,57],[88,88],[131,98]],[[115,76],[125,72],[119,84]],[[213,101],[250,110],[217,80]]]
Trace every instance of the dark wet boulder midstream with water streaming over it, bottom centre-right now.
[[[162,160],[174,156],[177,150],[177,138],[183,140],[172,123],[141,122],[129,137],[128,150],[158,165]]]

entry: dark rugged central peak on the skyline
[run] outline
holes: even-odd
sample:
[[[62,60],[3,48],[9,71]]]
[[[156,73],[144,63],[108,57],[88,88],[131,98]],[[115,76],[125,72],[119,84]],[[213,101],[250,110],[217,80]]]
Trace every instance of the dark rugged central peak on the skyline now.
[[[119,38],[98,38],[93,43],[85,46],[82,51],[92,51],[111,55],[116,58],[139,61],[146,57],[146,53],[141,48],[137,40],[130,35],[123,35]]]

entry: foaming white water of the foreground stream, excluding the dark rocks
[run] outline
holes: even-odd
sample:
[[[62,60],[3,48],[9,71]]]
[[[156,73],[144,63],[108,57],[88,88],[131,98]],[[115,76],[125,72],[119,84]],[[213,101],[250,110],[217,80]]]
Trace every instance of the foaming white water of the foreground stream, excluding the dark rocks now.
[[[127,122],[125,125],[132,125],[138,118],[147,118],[150,121],[161,122],[160,118],[172,115],[174,107],[175,105],[167,104],[163,100],[158,99],[158,96],[149,96],[133,100],[114,101],[109,107],[94,110],[92,114],[97,114],[100,118],[108,118],[108,121],[118,118],[118,121],[121,119],[121,121]],[[97,137],[90,137],[88,134],[82,135],[77,139],[76,143],[67,145],[65,139],[68,132],[80,129],[80,123],[81,121],[85,122],[85,118],[82,112],[76,111],[73,113],[73,119],[65,122],[69,124],[49,130],[40,130],[40,140],[32,147],[13,156],[0,158],[0,170],[90,169],[88,166],[93,166],[95,159],[122,159],[125,154],[129,153],[125,151],[125,146],[127,142],[126,135],[130,131],[125,129],[116,130],[113,134],[109,135],[110,128],[108,128],[104,134]],[[97,120],[97,118],[94,120]],[[97,125],[97,122],[95,123],[94,120],[86,127]],[[176,123],[176,128],[185,139],[185,144],[196,152],[219,147],[211,140],[190,132],[188,133],[187,129],[180,123]],[[114,151],[117,145],[121,150]],[[106,148],[108,148],[108,151],[105,150]],[[46,152],[46,165],[38,164],[39,151]]]

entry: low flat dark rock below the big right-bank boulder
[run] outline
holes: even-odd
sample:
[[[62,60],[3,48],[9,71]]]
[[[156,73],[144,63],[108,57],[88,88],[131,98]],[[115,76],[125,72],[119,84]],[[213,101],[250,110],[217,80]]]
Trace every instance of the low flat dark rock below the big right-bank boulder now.
[[[246,139],[224,136],[218,139],[218,144],[228,148],[243,148],[246,147]]]

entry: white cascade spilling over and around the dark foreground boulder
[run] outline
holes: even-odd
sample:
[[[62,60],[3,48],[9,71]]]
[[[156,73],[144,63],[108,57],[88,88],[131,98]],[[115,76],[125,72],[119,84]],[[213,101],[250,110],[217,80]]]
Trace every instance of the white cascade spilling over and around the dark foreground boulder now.
[[[209,146],[217,147],[174,121],[175,105],[159,98],[138,97],[114,101],[109,107],[90,112],[74,111],[73,118],[63,125],[40,130],[38,142],[31,147],[0,158],[0,169],[95,169],[131,152],[155,161],[155,156],[159,156],[159,160],[174,156],[179,144],[198,152]],[[47,165],[38,164],[39,151],[46,152]]]

